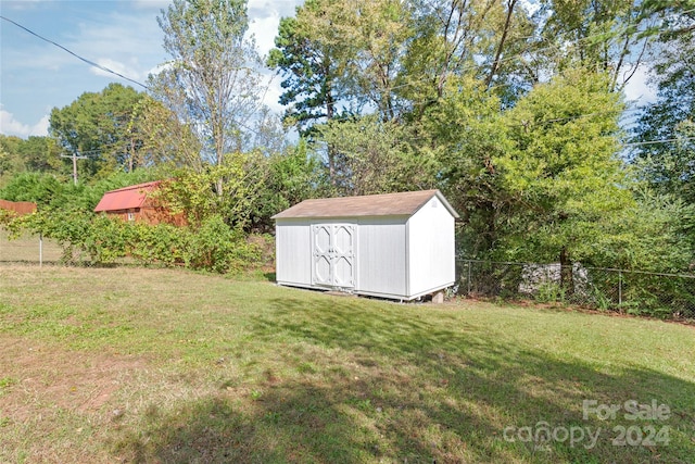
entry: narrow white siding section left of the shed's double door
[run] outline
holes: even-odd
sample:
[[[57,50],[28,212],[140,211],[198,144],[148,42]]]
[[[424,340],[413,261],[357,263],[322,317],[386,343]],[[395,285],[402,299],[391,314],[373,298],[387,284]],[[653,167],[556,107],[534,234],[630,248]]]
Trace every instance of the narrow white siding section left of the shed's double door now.
[[[311,286],[311,225],[307,222],[278,221],[275,240],[278,284]]]

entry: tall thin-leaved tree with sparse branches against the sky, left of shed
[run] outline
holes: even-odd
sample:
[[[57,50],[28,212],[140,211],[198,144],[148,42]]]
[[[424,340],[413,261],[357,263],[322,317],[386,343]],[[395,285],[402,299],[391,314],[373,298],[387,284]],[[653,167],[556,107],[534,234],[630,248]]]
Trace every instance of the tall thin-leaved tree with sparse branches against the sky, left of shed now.
[[[174,0],[157,22],[172,60],[152,78],[155,97],[197,131],[206,160],[222,165],[245,148],[262,93],[247,2]]]

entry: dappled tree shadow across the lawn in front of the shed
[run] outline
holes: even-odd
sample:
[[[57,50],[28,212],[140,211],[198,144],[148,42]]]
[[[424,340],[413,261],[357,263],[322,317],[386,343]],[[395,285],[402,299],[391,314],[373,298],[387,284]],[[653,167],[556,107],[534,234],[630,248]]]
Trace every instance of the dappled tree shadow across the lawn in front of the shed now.
[[[441,312],[334,298],[282,299],[253,317],[253,336],[276,346],[294,374],[258,378],[161,414],[117,447],[132,462],[688,462],[695,426],[692,383],[661,373],[558,360],[505,343]],[[533,334],[529,334],[532,338]],[[290,340],[290,341],[288,341]],[[582,402],[649,403],[673,414],[658,423],[582,416]],[[522,427],[580,427],[599,437],[520,439]],[[667,447],[614,446],[617,426],[667,426]],[[516,434],[515,431],[515,434]],[[535,436],[539,437],[535,440]],[[505,438],[506,437],[506,438]],[[508,438],[514,439],[514,441]],[[525,438],[525,437],[523,437]]]

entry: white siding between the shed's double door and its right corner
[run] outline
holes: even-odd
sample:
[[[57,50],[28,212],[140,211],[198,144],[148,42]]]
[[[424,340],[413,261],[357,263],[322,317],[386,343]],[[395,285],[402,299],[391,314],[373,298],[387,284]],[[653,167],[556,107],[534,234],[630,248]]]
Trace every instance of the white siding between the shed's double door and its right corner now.
[[[406,298],[405,220],[361,218],[357,293]]]

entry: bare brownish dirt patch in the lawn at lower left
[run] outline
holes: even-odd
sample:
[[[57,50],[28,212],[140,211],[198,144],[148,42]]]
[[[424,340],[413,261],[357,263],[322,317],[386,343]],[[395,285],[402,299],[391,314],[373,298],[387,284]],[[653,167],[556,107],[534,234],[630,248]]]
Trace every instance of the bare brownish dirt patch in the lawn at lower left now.
[[[0,336],[0,411],[15,423],[56,407],[113,414],[114,393],[147,366],[142,358],[65,351],[10,336]]]

